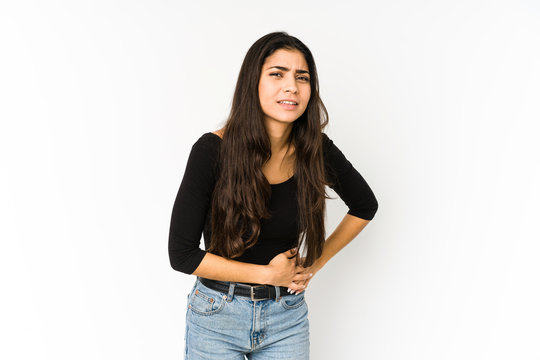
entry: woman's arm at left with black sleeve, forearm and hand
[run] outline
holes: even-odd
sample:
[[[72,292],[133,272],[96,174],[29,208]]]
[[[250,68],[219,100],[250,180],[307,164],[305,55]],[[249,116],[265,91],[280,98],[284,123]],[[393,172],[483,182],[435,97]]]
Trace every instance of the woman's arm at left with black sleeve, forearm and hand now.
[[[268,265],[249,264],[208,253],[200,246],[216,177],[215,138],[200,138],[192,147],[174,202],[169,230],[169,259],[174,270],[214,280],[302,286],[292,252],[276,255]]]

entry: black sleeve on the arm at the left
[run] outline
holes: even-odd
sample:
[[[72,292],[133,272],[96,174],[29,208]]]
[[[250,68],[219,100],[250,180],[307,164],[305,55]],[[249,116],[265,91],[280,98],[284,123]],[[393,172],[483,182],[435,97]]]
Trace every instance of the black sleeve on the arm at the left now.
[[[204,140],[201,137],[191,148],[169,229],[171,266],[186,274],[192,274],[206,255],[199,246],[215,186],[217,152]]]

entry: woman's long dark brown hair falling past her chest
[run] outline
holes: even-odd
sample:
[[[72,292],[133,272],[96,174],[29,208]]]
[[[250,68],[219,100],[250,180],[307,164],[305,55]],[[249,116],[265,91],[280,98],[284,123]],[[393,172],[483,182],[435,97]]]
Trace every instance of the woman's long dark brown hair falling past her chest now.
[[[303,266],[321,256],[326,216],[322,130],[328,112],[319,97],[319,80],[311,51],[286,32],[273,32],[257,40],[248,50],[234,91],[219,154],[220,175],[213,200],[209,252],[235,258],[255,245],[260,219],[269,218],[271,187],[262,166],[271,157],[270,139],[264,127],[258,84],[265,59],[276,50],[298,50],[308,64],[311,96],[304,113],[294,121],[289,145],[295,147],[299,229],[298,248],[306,251]],[[244,240],[242,236],[248,234]],[[300,261],[300,251],[297,261]]]

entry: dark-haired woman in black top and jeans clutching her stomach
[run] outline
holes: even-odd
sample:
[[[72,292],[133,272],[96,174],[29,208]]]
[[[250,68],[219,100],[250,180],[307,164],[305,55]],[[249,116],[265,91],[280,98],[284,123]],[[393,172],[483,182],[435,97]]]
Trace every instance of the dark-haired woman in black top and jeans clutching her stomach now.
[[[197,276],[186,359],[309,359],[305,290],[378,207],[322,132],[327,119],[309,49],[284,32],[257,40],[225,126],[191,149],[172,211],[171,266]],[[349,208],[327,239],[325,185]]]

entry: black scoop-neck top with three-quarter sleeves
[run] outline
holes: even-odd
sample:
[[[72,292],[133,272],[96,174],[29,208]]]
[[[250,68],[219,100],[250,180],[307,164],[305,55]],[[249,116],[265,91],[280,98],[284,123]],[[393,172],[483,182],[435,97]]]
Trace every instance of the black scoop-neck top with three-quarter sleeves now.
[[[217,179],[217,156],[221,138],[203,134],[191,148],[184,177],[174,202],[170,231],[169,259],[173,269],[191,274],[201,263],[205,250],[199,245],[201,233],[205,248],[210,246],[210,206]],[[350,215],[371,220],[378,203],[373,191],[333,141],[323,133],[323,157],[326,178],[345,202]],[[234,260],[266,265],[277,254],[294,247],[298,241],[298,205],[296,179],[270,184],[272,218],[261,220],[256,244]]]

